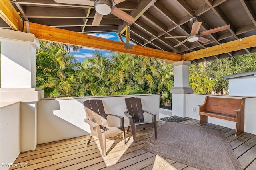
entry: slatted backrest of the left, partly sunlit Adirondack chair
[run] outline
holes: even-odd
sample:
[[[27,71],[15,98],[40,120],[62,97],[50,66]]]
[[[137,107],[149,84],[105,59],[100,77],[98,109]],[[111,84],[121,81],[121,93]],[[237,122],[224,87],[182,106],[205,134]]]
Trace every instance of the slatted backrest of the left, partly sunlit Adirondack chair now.
[[[104,110],[102,100],[86,100],[84,101],[86,115],[90,121],[98,123],[102,127],[108,127],[107,116]]]

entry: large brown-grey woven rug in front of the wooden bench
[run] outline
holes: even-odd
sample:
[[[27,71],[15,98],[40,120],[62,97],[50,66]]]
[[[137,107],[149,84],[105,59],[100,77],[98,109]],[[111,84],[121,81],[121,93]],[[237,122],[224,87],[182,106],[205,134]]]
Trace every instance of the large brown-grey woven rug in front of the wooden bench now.
[[[221,130],[165,122],[143,149],[201,170],[242,170]]]

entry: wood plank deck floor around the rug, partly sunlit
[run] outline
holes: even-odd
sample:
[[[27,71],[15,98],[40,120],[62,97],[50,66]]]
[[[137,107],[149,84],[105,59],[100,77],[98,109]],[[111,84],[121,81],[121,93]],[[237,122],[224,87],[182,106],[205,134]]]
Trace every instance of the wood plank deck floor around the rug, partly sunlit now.
[[[158,121],[158,128],[164,121]],[[199,126],[199,121],[189,119],[181,123]],[[240,164],[245,170],[256,170],[256,135],[243,133],[236,137],[235,130],[226,127],[207,124],[204,127],[222,129]],[[124,146],[122,135],[107,139],[107,156],[102,157],[97,138],[92,138],[87,145],[89,135],[40,144],[35,150],[22,152],[14,163],[28,165],[17,169],[109,169],[109,170],[196,170],[191,166],[152,154],[142,145],[154,135],[154,130],[141,129],[137,133],[137,143],[133,143],[131,132],[126,133],[127,145]],[[14,169],[11,168],[11,169]]]

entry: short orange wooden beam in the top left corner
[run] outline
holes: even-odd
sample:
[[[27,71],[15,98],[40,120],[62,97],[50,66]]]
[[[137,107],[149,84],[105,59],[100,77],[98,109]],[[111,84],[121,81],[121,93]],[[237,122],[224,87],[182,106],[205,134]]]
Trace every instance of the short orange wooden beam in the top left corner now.
[[[23,31],[23,20],[10,0],[0,0],[0,17],[14,30]]]

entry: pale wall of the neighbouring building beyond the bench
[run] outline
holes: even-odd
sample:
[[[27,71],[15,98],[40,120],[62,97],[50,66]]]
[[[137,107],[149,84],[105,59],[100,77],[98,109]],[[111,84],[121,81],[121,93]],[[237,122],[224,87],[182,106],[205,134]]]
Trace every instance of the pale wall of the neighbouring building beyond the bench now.
[[[256,97],[256,77],[228,80],[229,95]]]

